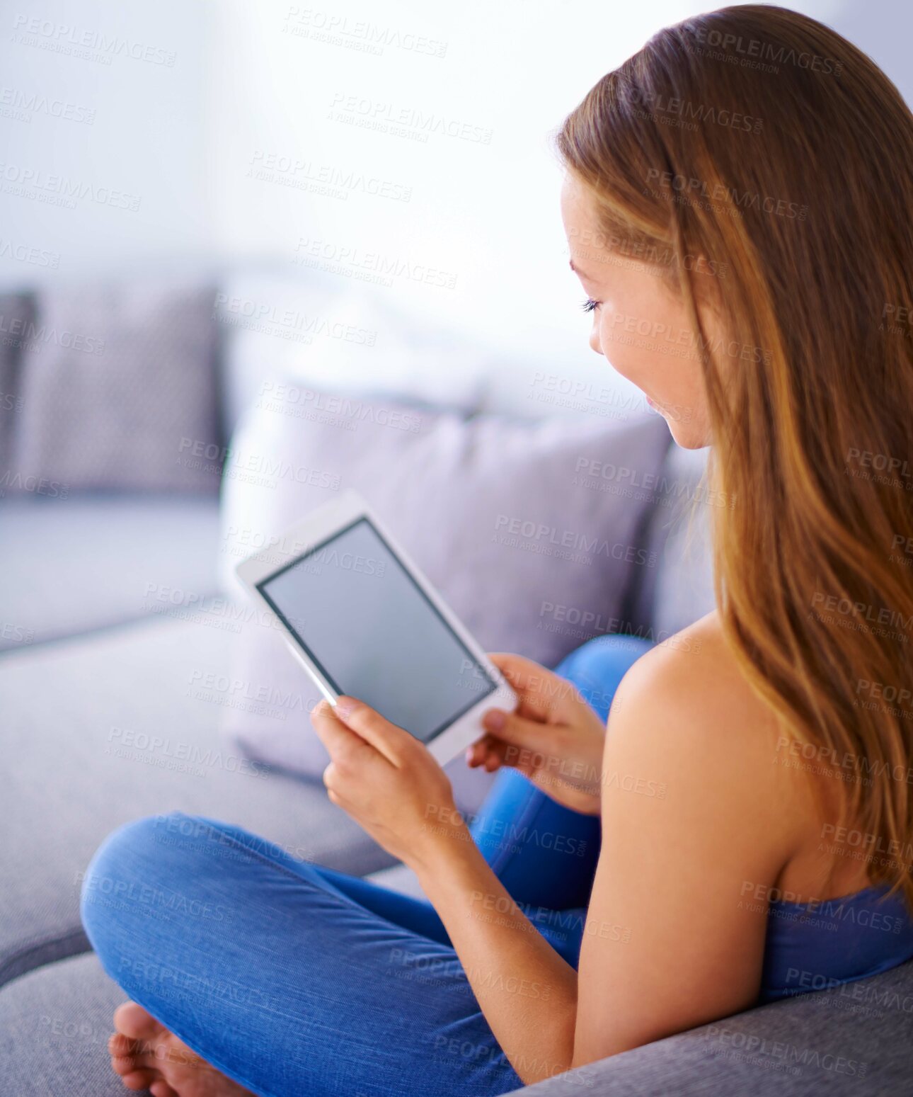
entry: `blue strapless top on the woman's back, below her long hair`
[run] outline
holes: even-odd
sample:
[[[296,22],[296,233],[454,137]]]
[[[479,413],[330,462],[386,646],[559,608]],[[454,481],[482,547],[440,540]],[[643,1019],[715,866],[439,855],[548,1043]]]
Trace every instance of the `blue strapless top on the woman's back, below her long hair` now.
[[[877,975],[913,958],[913,919],[903,896],[866,887],[801,905],[772,902],[761,1002],[776,1002]]]

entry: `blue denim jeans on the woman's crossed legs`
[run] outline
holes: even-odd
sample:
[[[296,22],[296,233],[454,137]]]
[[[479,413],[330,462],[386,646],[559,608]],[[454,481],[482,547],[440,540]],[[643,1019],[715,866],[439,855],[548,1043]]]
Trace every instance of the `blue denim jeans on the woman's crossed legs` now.
[[[603,636],[557,668],[605,719],[649,647]],[[513,770],[471,824],[487,860],[577,964],[598,819]],[[82,923],[107,974],[261,1097],[503,1094],[499,1048],[430,903],[174,812],[119,827],[87,870]]]

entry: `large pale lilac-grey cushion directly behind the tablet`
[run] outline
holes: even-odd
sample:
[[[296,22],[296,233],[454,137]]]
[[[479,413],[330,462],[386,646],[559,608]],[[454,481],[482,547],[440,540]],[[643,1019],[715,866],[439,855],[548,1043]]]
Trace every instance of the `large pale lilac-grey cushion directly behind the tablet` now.
[[[627,483],[632,474],[655,477],[667,445],[667,428],[653,417],[608,426],[467,420],[276,383],[232,441],[222,486],[225,586],[243,597],[235,565],[264,545],[281,547],[309,510],[351,487],[487,651],[555,666],[590,636],[617,629],[634,575],[655,565],[637,539],[650,502]],[[601,475],[609,467],[614,475]],[[266,699],[297,694],[308,706],[318,699],[253,608],[235,674]],[[262,712],[227,711],[226,732],[252,757],[293,771],[317,774],[327,765],[319,740],[289,734]]]

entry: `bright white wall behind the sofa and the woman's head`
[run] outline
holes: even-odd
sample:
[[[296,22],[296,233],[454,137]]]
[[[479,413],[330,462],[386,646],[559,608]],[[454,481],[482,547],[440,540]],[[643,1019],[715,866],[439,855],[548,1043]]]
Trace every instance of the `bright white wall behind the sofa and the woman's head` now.
[[[400,273],[377,293],[407,315],[500,348],[526,369],[549,362],[562,375],[604,382],[606,366],[586,347],[582,293],[567,267],[549,134],[653,31],[706,7],[693,0],[9,7],[0,16],[7,150],[0,279],[16,285],[175,263],[259,263],[295,275],[305,272],[297,260],[312,248],[335,259],[342,273],[323,278],[345,289],[357,268],[379,257]],[[892,10],[887,0],[794,7],[858,42],[910,93],[909,7]],[[41,21],[31,38],[21,37],[28,30],[23,18]],[[358,48],[363,22],[380,45]],[[96,35],[150,50],[153,59],[112,56],[93,43]],[[75,39],[84,38],[111,64],[73,56]],[[173,64],[158,63],[171,55]],[[28,121],[10,116],[32,95],[76,113],[94,111],[94,121],[42,109]],[[387,131],[334,115],[350,98],[354,118],[379,118]],[[400,112],[465,132],[413,139],[423,135],[420,121],[397,135],[389,126]],[[139,195],[139,208],[83,197],[70,210],[23,197],[11,192],[23,169]],[[347,196],[319,192],[315,182],[327,173]],[[352,176],[389,193],[350,190],[344,180]],[[20,255],[25,246],[59,256],[59,270],[4,256],[4,240],[20,246]],[[445,284],[413,281],[407,269],[431,269]],[[513,382],[505,375],[504,383]]]

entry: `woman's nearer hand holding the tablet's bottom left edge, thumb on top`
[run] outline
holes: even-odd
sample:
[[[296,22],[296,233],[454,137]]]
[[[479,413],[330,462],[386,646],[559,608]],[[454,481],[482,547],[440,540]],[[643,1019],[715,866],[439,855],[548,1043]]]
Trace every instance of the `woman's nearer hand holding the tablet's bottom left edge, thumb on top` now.
[[[416,871],[442,844],[470,841],[447,774],[423,743],[363,701],[321,701],[311,724],[330,754],[323,784],[387,852]]]

